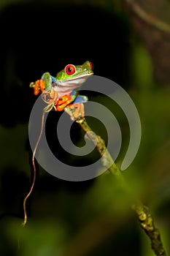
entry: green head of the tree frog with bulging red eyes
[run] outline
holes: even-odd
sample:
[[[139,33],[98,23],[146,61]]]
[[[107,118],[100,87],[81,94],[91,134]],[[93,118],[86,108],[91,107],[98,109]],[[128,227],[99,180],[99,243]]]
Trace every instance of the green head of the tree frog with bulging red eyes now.
[[[69,64],[66,65],[65,69],[61,70],[57,73],[57,81],[58,83],[64,83],[66,81],[73,81],[74,82],[80,82],[80,80],[83,80],[83,82],[88,78],[88,76],[93,75],[93,64],[90,61],[85,61],[82,65],[73,65]],[[80,83],[83,83],[80,82]]]

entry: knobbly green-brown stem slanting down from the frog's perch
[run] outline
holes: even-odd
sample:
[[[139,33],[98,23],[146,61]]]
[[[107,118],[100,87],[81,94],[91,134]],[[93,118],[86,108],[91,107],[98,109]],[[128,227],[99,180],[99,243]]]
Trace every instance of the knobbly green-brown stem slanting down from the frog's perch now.
[[[128,187],[128,184],[126,184],[119,167],[115,165],[115,162],[109,154],[104,140],[92,131],[85,118],[80,119],[77,121],[77,123],[80,124],[82,129],[86,132],[88,138],[96,145],[96,148],[102,157],[102,165],[104,165],[104,167],[108,167],[107,169],[109,172],[112,173],[112,175],[115,176],[118,181],[120,181],[120,185],[129,193],[129,195],[131,195],[132,199],[134,200],[132,209],[135,211],[139,219],[140,226],[150,238],[152,250],[155,252],[155,255],[166,256],[166,252],[161,241],[161,234],[154,225],[149,208],[144,206],[140,200],[134,198],[134,195],[131,192],[131,189]]]

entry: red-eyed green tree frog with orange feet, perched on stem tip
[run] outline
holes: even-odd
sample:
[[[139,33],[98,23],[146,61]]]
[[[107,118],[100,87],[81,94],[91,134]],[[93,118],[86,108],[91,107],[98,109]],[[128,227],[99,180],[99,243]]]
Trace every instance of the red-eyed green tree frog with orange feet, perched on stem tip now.
[[[83,103],[88,101],[88,97],[80,95],[74,89],[82,86],[90,75],[93,75],[92,62],[85,61],[77,66],[68,64],[57,73],[56,78],[45,72],[42,78],[31,83],[30,87],[34,88],[35,95],[42,92],[42,99],[48,104],[45,112],[53,108],[56,111],[65,110],[72,120],[77,120],[85,117]]]

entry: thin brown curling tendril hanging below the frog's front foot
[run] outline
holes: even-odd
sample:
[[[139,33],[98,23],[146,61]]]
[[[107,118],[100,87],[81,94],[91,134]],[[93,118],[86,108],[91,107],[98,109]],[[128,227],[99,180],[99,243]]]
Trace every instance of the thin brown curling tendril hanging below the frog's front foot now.
[[[26,225],[26,222],[27,222],[26,200],[27,200],[28,197],[31,195],[31,192],[32,192],[33,189],[34,189],[34,184],[35,184],[35,181],[36,181],[35,154],[36,154],[36,148],[39,146],[39,141],[40,141],[41,138],[42,138],[42,131],[43,131],[44,123],[45,123],[45,111],[43,111],[43,113],[42,113],[42,127],[41,127],[41,131],[40,131],[40,133],[39,133],[39,138],[38,138],[38,140],[37,140],[37,142],[36,142],[36,146],[35,146],[35,148],[34,148],[34,152],[33,152],[33,156],[32,156],[32,164],[33,164],[33,168],[34,168],[33,182],[32,182],[30,191],[28,192],[28,194],[26,195],[26,197],[25,197],[24,200],[23,200],[23,212],[24,212],[23,227]]]

